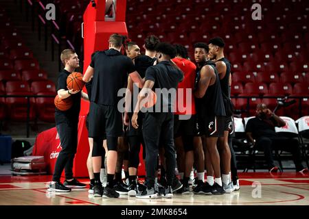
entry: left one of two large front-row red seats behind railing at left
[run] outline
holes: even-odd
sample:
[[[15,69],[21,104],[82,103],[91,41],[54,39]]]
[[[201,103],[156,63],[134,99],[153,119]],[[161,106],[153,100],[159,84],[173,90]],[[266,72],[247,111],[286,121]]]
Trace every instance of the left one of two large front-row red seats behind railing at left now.
[[[33,95],[25,81],[8,81],[5,91],[7,95]],[[8,97],[6,103],[8,104],[8,114],[12,120],[27,120],[27,98]],[[34,103],[34,98],[30,98],[30,120],[35,118]]]

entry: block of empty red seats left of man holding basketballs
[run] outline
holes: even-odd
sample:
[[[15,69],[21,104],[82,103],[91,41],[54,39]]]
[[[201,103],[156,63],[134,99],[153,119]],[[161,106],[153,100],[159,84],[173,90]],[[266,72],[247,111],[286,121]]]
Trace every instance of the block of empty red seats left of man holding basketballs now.
[[[56,96],[53,81],[40,68],[32,51],[25,45],[19,32],[12,27],[10,18],[0,10],[0,119],[26,121],[27,104],[30,103],[29,119],[54,122],[54,98],[27,95]]]

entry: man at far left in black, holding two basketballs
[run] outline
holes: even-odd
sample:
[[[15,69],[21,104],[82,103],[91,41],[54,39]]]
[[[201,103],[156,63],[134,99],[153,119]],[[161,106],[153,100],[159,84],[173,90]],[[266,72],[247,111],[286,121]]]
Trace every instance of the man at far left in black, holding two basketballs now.
[[[80,90],[68,90],[67,77],[80,66],[78,55],[72,49],[65,49],[61,52],[60,59],[65,68],[58,75],[57,93],[60,99],[71,96],[73,105],[67,111],[60,111],[56,108],[55,121],[56,129],[60,138],[62,149],[57,157],[52,182],[49,183],[49,192],[70,192],[71,188],[85,188],[73,178],[73,159],[78,146],[78,116],[80,114],[80,98],[88,99],[88,95]],[[65,169],[65,182],[60,183],[60,177]]]

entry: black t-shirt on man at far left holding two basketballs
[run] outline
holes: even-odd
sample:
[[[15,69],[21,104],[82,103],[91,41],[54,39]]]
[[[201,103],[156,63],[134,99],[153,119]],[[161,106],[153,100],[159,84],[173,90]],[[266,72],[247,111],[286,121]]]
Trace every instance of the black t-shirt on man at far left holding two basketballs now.
[[[57,91],[60,89],[68,90],[67,89],[67,77],[69,76],[69,74],[71,73],[69,73],[65,69],[60,71],[58,75]],[[60,111],[56,108],[55,110],[56,125],[60,123],[78,123],[78,116],[80,114],[80,97],[81,97],[81,92],[71,95],[73,105],[67,111]]]

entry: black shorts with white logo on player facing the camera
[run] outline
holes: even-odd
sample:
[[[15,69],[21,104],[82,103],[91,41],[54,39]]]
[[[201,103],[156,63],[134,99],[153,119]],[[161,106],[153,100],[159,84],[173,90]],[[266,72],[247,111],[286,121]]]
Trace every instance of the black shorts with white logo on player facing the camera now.
[[[225,116],[207,116],[198,118],[201,136],[223,137],[225,135]]]

